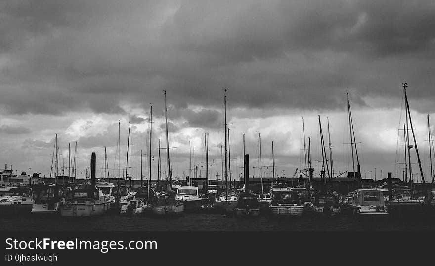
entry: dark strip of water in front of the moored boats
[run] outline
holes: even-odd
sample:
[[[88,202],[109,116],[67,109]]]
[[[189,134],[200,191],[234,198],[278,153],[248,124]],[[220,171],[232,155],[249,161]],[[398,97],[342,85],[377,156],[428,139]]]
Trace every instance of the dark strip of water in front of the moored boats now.
[[[236,218],[192,213],[178,218],[126,217],[0,217],[0,231],[435,231],[434,219],[358,221],[334,218]]]

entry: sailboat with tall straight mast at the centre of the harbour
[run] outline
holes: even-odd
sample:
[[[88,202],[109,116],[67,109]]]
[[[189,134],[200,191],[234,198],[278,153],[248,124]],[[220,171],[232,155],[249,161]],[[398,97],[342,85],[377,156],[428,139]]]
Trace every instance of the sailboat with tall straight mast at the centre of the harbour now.
[[[225,134],[225,187],[226,191],[222,192],[219,197],[216,199],[216,202],[214,204],[214,207],[217,209],[221,209],[226,213],[233,213],[237,203],[238,203],[238,196],[236,193],[229,190],[229,184],[228,184],[228,170],[227,170],[227,123],[226,123],[226,91],[228,89],[224,88],[224,101],[223,101],[223,110],[224,110],[224,116],[225,116],[225,123],[224,123],[224,131]]]

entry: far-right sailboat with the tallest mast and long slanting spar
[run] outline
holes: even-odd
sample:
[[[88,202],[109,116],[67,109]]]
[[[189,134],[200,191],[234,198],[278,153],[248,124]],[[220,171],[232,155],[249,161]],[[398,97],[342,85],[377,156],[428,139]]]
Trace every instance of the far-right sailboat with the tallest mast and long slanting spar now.
[[[423,175],[422,165],[420,161],[420,155],[418,152],[418,146],[417,141],[414,134],[414,128],[412,125],[412,119],[411,119],[411,111],[409,108],[408,103],[408,97],[406,95],[406,88],[408,87],[407,83],[404,83],[403,85],[403,94],[404,94],[404,100],[405,100],[405,115],[406,115],[406,128],[404,127],[404,138],[405,138],[405,160],[406,160],[406,154],[408,155],[408,167],[407,170],[409,170],[409,185],[411,188],[407,187],[401,187],[401,188],[395,188],[393,189],[391,187],[392,191],[392,199],[387,202],[387,209],[390,215],[394,217],[416,217],[417,215],[422,215],[425,212],[425,206],[424,206],[424,200],[416,198],[413,194],[414,190],[414,179],[412,175],[412,168],[411,168],[411,149],[415,148],[415,152],[417,155],[418,165],[420,169],[420,177],[422,179],[423,185],[425,185],[425,178]],[[429,117],[428,117],[429,119]],[[408,124],[409,122],[409,124]],[[428,120],[429,122],[429,120]],[[414,140],[414,145],[409,144],[409,127],[411,126],[411,132]],[[406,167],[406,162],[405,162]],[[405,171],[406,173],[407,171]]]

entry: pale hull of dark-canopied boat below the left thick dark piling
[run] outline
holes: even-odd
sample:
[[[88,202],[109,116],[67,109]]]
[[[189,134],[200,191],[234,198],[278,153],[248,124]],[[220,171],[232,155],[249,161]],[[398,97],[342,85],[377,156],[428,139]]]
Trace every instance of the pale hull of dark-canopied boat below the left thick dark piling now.
[[[109,208],[109,202],[65,204],[60,208],[60,215],[66,217],[96,216],[106,213]]]

